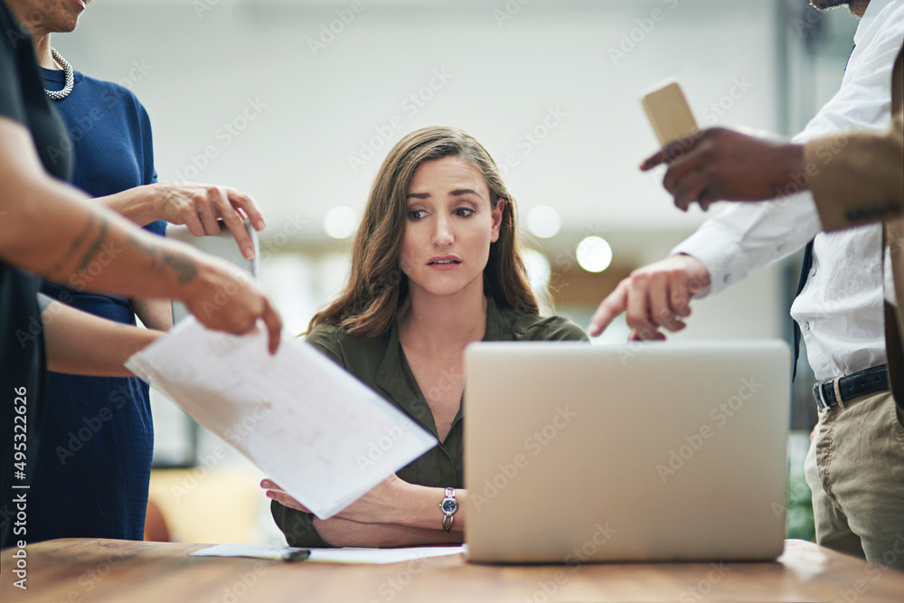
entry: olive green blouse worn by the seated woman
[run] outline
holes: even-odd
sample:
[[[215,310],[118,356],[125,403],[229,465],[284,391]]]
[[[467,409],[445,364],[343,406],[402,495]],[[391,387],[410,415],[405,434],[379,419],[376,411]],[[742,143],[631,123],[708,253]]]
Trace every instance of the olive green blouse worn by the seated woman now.
[[[562,316],[542,317],[500,308],[486,298],[484,341],[584,340],[587,334]],[[399,343],[399,325],[372,339],[359,339],[334,325],[317,325],[306,341],[351,372],[373,391],[389,400],[437,438],[431,448],[397,475],[410,484],[431,487],[464,487],[462,479],[462,415],[458,413],[443,442],[439,441],[433,412],[420,392],[418,382]],[[270,510],[291,546],[326,547],[314,528],[314,515],[289,509],[274,501]]]

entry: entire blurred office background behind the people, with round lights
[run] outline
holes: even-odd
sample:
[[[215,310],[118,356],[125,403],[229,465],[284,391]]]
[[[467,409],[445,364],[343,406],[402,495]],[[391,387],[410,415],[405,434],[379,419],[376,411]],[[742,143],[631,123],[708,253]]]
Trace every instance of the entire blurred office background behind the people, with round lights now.
[[[792,135],[837,90],[857,20],[806,0],[95,0],[53,45],[133,90],[159,179],[250,193],[261,270],[302,333],[344,282],[386,152],[419,127],[463,127],[518,205],[532,283],[579,325],[632,269],[700,224],[674,209],[640,104],[676,78],[702,127]],[[716,206],[711,212],[719,212]],[[694,303],[675,339],[790,336],[799,256]],[[624,342],[618,322],[599,342]],[[788,529],[812,536],[802,461],[815,424],[801,363],[789,417]],[[283,542],[260,475],[152,393],[151,496],[184,542]]]

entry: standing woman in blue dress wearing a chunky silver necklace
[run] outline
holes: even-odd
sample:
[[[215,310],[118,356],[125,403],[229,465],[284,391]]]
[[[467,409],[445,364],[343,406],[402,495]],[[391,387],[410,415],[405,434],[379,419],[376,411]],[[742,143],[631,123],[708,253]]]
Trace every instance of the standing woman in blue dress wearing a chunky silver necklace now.
[[[240,221],[264,227],[256,203],[227,187],[156,182],[151,125],[141,103],[126,88],[74,71],[51,47],[51,33],[71,32],[87,1],[8,0],[32,34],[47,96],[69,128],[49,148],[53,160],[70,149],[70,183],[146,230],[163,234],[165,221],[186,224],[197,236],[220,231],[225,222],[240,249],[253,255]],[[115,250],[110,250],[110,260]],[[89,269],[70,287],[49,282],[42,292],[81,310],[135,325],[135,316],[168,329],[167,300],[140,300],[90,292]],[[42,446],[35,459],[29,506],[29,541],[95,537],[142,540],[154,429],[147,385],[131,378],[48,373]]]

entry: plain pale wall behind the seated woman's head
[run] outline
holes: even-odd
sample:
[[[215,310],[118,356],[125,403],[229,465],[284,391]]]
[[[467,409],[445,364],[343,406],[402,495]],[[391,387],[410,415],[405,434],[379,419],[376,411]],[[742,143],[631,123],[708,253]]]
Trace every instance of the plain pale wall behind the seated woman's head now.
[[[154,124],[161,179],[182,174],[253,194],[268,217],[268,256],[343,249],[323,232],[325,212],[360,210],[400,137],[451,124],[512,164],[506,178],[522,215],[539,204],[560,210],[556,249],[573,250],[592,231],[611,240],[617,263],[639,265],[663,257],[703,216],[673,209],[661,172],[636,169],[656,148],[642,91],[677,77],[702,125],[776,127],[769,0],[363,0],[358,14],[351,6],[92,3],[78,32],[54,45],[76,69],[137,93]],[[341,14],[354,16],[342,24]],[[321,38],[330,26],[341,29],[332,42]],[[312,50],[318,38],[328,43]],[[554,127],[544,132],[547,116]],[[525,136],[535,128],[547,134],[537,145]],[[353,168],[362,145],[381,148]],[[267,285],[293,329],[334,287],[330,266],[272,263]],[[780,335],[777,288],[767,271],[702,302],[684,336]]]

